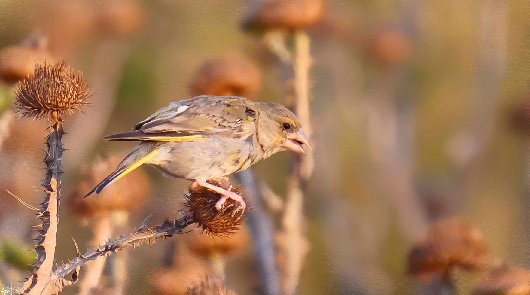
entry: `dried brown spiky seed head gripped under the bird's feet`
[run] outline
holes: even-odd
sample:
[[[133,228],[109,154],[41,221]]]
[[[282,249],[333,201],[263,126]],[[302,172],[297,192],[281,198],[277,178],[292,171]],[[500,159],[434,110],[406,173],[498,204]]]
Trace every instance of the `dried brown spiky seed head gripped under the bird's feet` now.
[[[218,181],[208,181],[214,185],[220,185]],[[237,187],[232,189],[233,192],[241,194]],[[237,208],[237,202],[227,199],[225,210],[217,211],[215,203],[220,199],[220,195],[212,192],[202,186],[189,187],[189,195],[184,194],[186,199],[184,208],[193,216],[193,221],[206,231],[207,234],[217,237],[228,237],[240,228],[243,217],[240,212],[234,212]],[[244,196],[243,196],[244,199]]]

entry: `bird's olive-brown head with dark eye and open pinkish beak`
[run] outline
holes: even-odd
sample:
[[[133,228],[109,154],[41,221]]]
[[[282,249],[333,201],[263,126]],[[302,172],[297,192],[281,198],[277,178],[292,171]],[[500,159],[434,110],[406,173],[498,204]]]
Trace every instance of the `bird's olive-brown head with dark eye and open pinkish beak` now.
[[[257,122],[258,141],[269,153],[289,149],[305,155],[311,145],[296,115],[279,103],[255,103],[259,118]]]

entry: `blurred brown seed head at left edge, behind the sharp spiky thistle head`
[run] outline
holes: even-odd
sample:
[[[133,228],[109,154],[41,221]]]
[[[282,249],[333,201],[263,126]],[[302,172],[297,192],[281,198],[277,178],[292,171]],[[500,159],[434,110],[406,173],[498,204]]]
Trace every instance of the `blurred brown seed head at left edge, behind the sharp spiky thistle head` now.
[[[0,79],[13,83],[33,76],[36,63],[52,62],[54,58],[46,49],[46,42],[29,43],[19,46],[8,46],[0,50]]]

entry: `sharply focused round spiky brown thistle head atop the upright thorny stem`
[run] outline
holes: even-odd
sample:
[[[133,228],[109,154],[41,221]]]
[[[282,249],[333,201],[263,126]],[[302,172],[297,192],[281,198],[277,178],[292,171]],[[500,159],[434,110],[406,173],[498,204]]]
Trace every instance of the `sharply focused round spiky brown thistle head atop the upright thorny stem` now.
[[[88,104],[90,85],[62,60],[53,65],[48,62],[37,64],[34,76],[19,82],[15,105],[23,117],[46,118],[51,124],[61,120],[65,113],[80,110]]]

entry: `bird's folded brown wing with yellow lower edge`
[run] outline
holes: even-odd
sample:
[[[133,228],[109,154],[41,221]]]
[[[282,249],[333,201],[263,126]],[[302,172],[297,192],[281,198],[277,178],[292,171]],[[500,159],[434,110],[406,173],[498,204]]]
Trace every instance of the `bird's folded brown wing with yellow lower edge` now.
[[[172,103],[108,140],[195,141],[219,135],[245,139],[255,132],[254,104],[242,97],[199,96]]]

